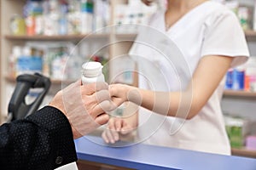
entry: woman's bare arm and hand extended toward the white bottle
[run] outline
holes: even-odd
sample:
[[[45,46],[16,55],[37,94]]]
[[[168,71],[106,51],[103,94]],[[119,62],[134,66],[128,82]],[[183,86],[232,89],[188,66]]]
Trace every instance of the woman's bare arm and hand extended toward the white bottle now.
[[[195,116],[230,68],[232,57],[204,56],[195,69],[187,89],[182,92],[154,92],[123,84],[110,86],[117,105],[131,101],[144,108],[167,116],[190,119]]]

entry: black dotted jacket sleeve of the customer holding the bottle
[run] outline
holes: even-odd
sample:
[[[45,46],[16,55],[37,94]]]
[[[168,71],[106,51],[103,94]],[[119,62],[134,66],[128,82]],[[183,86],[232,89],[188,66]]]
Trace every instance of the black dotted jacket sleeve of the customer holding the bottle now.
[[[76,160],[72,128],[54,107],[0,127],[0,169],[48,170]]]

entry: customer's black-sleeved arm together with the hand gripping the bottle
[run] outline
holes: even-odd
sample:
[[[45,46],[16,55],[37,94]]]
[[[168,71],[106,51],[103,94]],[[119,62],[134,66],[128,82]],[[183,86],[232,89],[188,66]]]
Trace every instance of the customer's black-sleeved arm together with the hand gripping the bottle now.
[[[108,85],[74,82],[43,109],[0,127],[1,169],[55,169],[77,160],[73,139],[108,122]]]

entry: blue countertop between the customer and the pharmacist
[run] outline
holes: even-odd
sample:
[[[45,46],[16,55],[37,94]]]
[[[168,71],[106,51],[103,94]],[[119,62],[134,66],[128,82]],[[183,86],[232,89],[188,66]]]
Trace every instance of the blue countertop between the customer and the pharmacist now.
[[[121,142],[120,142],[121,143]],[[256,170],[256,159],[208,154],[148,144],[106,145],[102,138],[75,140],[79,160],[135,169]],[[124,142],[123,142],[124,143]]]

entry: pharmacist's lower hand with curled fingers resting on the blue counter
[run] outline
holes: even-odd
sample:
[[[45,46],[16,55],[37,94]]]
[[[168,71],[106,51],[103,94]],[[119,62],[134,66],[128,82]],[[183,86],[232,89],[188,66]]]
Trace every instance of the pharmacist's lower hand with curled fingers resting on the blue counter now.
[[[132,130],[133,128],[124,119],[114,117],[109,120],[108,126],[102,133],[102,139],[108,144],[114,144],[121,136],[131,133]]]

